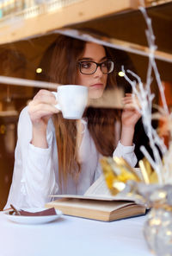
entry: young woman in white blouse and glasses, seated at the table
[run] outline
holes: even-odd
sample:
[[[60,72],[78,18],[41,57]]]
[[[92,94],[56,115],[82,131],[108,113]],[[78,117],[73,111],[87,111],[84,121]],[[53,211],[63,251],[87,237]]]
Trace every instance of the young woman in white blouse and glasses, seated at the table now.
[[[49,77],[63,85],[87,86],[89,99],[100,99],[105,90],[116,86],[114,58],[101,45],[59,35]],[[124,157],[132,166],[137,163],[132,138],[140,116],[131,107],[131,94],[123,99],[116,149],[115,110],[88,106],[81,120],[68,120],[55,104],[50,91],[40,90],[21,112],[6,208],[10,203],[18,208],[42,207],[52,194],[83,195],[101,175],[101,156]]]

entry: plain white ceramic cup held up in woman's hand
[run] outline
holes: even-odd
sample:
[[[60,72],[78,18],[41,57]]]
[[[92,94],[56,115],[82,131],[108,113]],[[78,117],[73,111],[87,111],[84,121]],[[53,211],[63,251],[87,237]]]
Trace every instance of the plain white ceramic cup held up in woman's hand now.
[[[55,107],[66,119],[81,119],[88,101],[88,87],[78,85],[58,86],[57,93],[52,92],[58,104]]]

